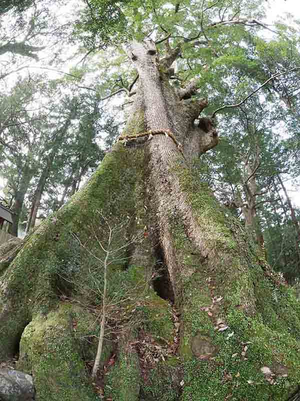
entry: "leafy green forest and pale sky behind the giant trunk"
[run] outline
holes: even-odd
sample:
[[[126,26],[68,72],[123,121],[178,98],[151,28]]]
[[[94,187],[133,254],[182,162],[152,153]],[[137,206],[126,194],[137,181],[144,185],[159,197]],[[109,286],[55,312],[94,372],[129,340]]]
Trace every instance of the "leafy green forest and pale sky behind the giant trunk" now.
[[[127,15],[114,2],[107,10],[96,1],[6,3],[0,9],[0,202],[14,215],[2,230],[23,237],[61,207],[124,127],[134,75],[119,44],[132,35],[130,25],[135,34],[156,36],[161,47],[176,27],[169,40],[183,40],[183,54],[174,86],[196,78],[198,96],[209,100],[205,113],[222,108],[219,144],[194,167],[264,247],[270,265],[287,280],[299,275],[300,54],[292,14],[270,25],[272,2],[203,2],[193,13],[202,13],[207,32],[197,40],[192,19],[184,20],[187,7],[171,15],[172,2],[160,14],[159,2],[130,2]],[[243,21],[241,12],[251,19]],[[223,108],[248,95],[238,107]]]

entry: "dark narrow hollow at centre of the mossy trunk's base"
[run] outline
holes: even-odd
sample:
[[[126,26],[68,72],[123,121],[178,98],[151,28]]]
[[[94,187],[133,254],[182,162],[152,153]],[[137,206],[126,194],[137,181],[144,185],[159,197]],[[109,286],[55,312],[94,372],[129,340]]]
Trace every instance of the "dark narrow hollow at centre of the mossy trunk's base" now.
[[[155,255],[155,266],[154,272],[155,277],[152,280],[152,286],[156,294],[165,300],[174,302],[174,292],[171,285],[167,266],[164,264],[164,254],[162,248],[157,245],[154,248]]]

